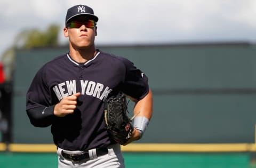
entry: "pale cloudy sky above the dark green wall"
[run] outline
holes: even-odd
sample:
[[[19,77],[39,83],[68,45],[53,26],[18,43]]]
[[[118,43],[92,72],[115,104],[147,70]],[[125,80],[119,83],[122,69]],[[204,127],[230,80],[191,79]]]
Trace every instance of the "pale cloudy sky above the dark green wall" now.
[[[63,27],[77,4],[98,15],[97,44],[256,42],[255,0],[1,0],[0,55],[23,29]],[[68,41],[62,29],[59,41]]]

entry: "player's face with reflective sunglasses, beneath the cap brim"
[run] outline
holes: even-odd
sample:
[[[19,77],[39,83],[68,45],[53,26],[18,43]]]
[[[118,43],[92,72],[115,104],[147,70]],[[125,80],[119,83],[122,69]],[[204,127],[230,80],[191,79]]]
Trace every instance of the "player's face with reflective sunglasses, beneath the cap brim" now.
[[[95,25],[96,23],[89,18],[83,16],[75,17],[64,28],[64,36],[69,37],[70,44],[78,49],[94,46],[94,39],[97,36],[97,27]]]

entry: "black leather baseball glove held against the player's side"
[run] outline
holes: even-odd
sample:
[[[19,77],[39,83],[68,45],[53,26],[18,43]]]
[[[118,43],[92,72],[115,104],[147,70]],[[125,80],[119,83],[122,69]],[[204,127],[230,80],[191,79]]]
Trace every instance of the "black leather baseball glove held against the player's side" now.
[[[105,101],[105,123],[109,137],[123,145],[132,135],[133,126],[127,116],[127,104],[125,95],[119,92],[115,97]]]

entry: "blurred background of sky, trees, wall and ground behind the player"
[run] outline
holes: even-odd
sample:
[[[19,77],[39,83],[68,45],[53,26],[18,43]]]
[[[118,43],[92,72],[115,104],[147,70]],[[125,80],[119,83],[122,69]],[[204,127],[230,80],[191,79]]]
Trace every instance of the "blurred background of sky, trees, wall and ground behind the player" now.
[[[57,167],[50,127],[30,124],[26,92],[68,52],[62,30],[77,4],[99,17],[97,48],[149,77],[154,115],[143,139],[122,148],[127,167],[256,167],[254,0],[1,0],[1,165]]]

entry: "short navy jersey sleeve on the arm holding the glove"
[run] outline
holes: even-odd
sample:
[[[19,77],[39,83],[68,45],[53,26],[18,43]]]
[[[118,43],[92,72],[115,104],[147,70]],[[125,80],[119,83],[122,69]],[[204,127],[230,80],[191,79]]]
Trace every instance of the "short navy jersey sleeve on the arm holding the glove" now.
[[[125,58],[121,59],[125,66],[125,78],[121,90],[137,100],[144,98],[149,92],[148,77],[135,67],[133,62]]]

